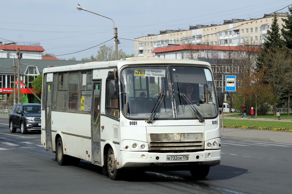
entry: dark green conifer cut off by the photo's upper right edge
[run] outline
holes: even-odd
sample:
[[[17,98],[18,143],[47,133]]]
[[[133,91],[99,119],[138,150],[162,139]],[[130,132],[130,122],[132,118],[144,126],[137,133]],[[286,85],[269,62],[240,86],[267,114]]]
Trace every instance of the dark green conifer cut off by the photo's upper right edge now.
[[[288,49],[292,49],[292,7],[289,7],[289,12],[287,13],[287,19],[282,18],[282,21],[285,22],[285,24],[283,24],[281,32],[285,40],[286,47]]]

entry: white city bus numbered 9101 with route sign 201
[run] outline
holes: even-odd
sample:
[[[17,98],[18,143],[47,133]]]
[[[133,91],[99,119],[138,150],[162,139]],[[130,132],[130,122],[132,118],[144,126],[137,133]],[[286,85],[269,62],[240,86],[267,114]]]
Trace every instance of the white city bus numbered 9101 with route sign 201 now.
[[[59,165],[83,159],[112,180],[135,168],[202,178],[221,160],[222,103],[206,62],[126,58],[49,67],[41,142]]]

